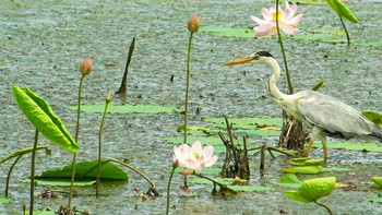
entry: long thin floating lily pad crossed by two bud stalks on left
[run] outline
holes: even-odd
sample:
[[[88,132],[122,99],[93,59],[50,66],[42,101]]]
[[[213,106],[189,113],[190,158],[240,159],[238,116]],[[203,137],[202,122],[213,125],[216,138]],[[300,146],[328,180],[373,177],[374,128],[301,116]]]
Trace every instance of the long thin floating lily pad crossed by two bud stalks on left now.
[[[70,106],[69,109],[76,110],[76,106]],[[105,105],[82,105],[81,111],[84,112],[104,112]],[[109,104],[108,112],[110,114],[169,114],[180,112],[182,109],[176,107],[165,107],[157,105],[121,105]]]

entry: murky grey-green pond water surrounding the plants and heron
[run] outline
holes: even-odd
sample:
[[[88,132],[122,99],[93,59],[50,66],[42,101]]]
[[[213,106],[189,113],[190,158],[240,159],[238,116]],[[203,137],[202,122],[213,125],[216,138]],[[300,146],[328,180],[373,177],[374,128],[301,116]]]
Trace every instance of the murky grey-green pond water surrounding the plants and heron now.
[[[200,15],[202,26],[250,27],[249,15],[260,16],[268,1],[1,1],[0,8],[0,158],[22,147],[33,145],[34,128],[15,105],[11,86],[31,87],[44,97],[74,133],[75,112],[68,109],[76,105],[81,60],[91,55],[93,71],[84,81],[83,101],[103,104],[106,95],[119,87],[131,39],[136,37],[128,95],[116,96],[112,103],[183,107],[186,60],[189,33],[187,21],[192,13]],[[375,1],[349,1],[359,19],[347,23],[350,37],[359,43],[382,43],[382,4]],[[300,34],[314,29],[341,29],[337,15],[325,4],[301,4],[305,13]],[[344,36],[345,37],[345,36]],[[351,46],[341,43],[285,39],[289,69],[296,91],[311,88],[324,81],[321,92],[337,97],[362,110],[382,111],[382,47]],[[270,50],[282,59],[276,39],[217,37],[196,33],[192,49],[192,77],[190,89],[190,124],[203,126],[205,117],[279,117],[282,111],[267,96],[266,68],[222,64],[255,50]],[[174,82],[170,77],[174,75]],[[282,79],[278,86],[286,89]],[[200,110],[200,111],[196,111]],[[82,114],[80,160],[97,157],[99,114]],[[182,115],[108,115],[104,134],[104,156],[129,159],[154,181],[162,196],[142,202],[134,188],[147,189],[145,181],[129,171],[128,184],[105,184],[102,198],[96,200],[93,188],[76,188],[79,196],[73,204],[92,214],[164,214],[166,186],[171,165],[172,145],[164,138],[181,135],[176,131],[183,123]],[[275,145],[278,138],[251,142]],[[40,144],[50,144],[40,139]],[[50,147],[52,155],[38,153],[37,175],[46,169],[70,164],[72,155]],[[370,177],[381,176],[382,154],[331,150],[329,167],[346,167],[349,171],[324,172],[318,177],[336,176],[345,183],[363,184]],[[313,150],[312,156],[322,155]],[[224,155],[219,155],[220,159]],[[255,164],[258,157],[251,158]],[[0,165],[7,172],[9,163]],[[273,192],[242,193],[229,198],[211,195],[208,186],[192,184],[194,198],[179,193],[182,178],[174,177],[171,208],[174,214],[324,214],[323,208],[288,200],[277,187],[282,167],[288,158],[266,160],[264,177],[251,169],[251,183],[275,187]],[[20,182],[29,172],[29,156],[13,171],[9,205],[0,205],[2,214],[19,214],[28,204],[28,184]],[[301,176],[300,179],[309,178]],[[4,184],[5,174],[0,176]],[[1,188],[3,188],[1,186]],[[322,200],[335,214],[380,214],[381,204],[368,202],[366,196],[378,191],[336,189]],[[47,189],[37,187],[36,192]],[[35,208],[58,210],[67,198],[36,200]]]

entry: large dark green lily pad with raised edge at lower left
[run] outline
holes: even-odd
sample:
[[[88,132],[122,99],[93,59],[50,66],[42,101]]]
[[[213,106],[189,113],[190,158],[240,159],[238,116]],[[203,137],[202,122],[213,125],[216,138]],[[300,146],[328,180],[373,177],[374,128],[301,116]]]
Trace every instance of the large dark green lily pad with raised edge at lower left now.
[[[75,184],[93,184],[97,177],[97,165],[98,160],[77,163],[75,166]],[[46,170],[40,176],[36,176],[35,180],[39,181],[40,184],[70,186],[72,170],[73,165],[64,166],[62,169]],[[129,177],[126,171],[116,165],[104,163],[100,168],[100,180],[128,181]]]

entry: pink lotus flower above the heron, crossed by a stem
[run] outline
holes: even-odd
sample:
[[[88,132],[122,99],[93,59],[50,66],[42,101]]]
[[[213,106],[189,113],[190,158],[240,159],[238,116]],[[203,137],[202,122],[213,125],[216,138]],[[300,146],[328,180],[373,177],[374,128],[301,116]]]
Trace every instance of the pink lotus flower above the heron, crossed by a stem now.
[[[287,1],[285,2],[285,11],[283,11],[282,8],[278,8],[278,27],[286,34],[297,33],[297,25],[300,23],[303,14],[294,16],[296,11],[297,4],[295,3],[289,7]],[[276,4],[273,3],[270,10],[265,8],[261,9],[261,13],[265,20],[251,15],[251,19],[259,24],[253,31],[258,36],[264,36],[267,34],[271,36],[277,35]]]

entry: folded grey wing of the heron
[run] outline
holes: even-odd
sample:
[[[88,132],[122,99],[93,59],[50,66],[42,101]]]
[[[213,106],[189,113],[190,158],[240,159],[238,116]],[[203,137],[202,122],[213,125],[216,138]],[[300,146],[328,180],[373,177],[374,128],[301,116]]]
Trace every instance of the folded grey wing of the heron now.
[[[317,92],[306,92],[297,101],[298,110],[303,118],[329,132],[343,134],[368,135],[372,133],[372,126],[355,108]]]

